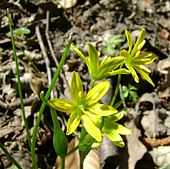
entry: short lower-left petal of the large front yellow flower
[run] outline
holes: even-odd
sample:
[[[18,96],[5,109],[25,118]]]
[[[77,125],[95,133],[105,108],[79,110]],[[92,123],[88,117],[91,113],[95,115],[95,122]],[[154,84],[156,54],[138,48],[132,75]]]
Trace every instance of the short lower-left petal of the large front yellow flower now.
[[[70,135],[75,132],[78,125],[80,124],[80,119],[81,116],[78,113],[76,112],[71,113],[70,118],[68,119],[67,122],[67,135]]]

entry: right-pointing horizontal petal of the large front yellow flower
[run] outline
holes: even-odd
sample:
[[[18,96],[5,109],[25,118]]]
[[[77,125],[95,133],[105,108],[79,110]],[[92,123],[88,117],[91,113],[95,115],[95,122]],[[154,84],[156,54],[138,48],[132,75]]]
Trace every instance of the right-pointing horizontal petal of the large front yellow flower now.
[[[117,112],[112,106],[97,103],[89,108],[90,113],[98,116],[109,116]]]

